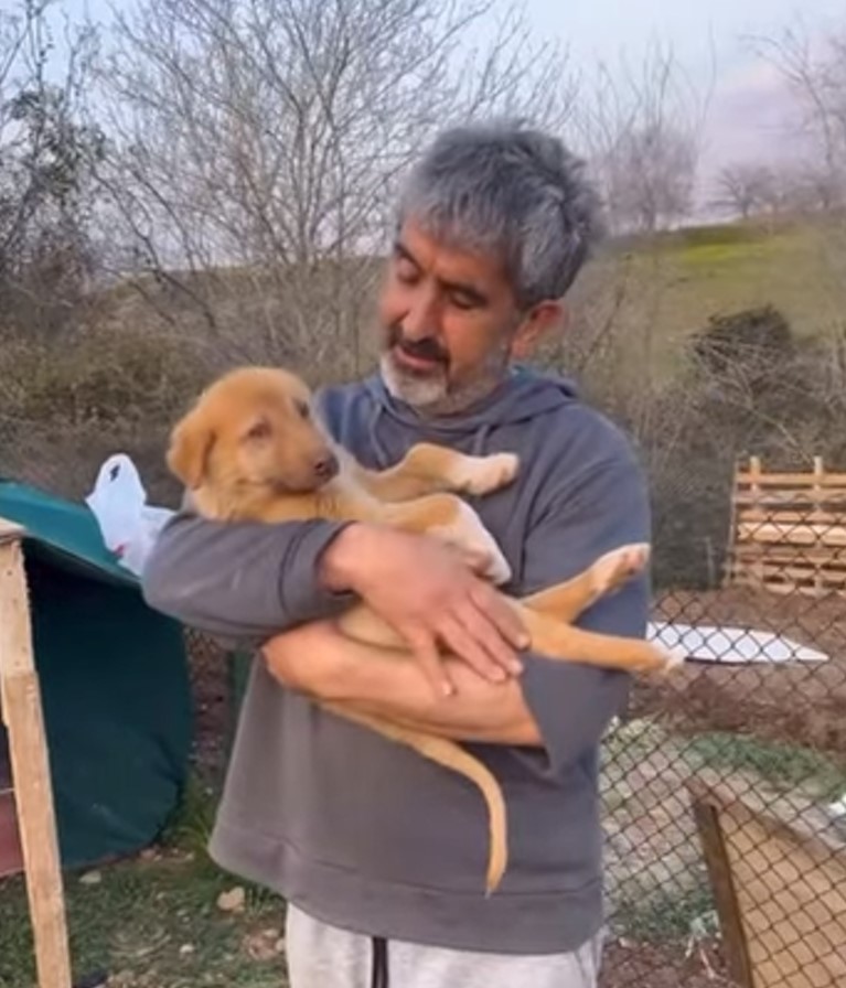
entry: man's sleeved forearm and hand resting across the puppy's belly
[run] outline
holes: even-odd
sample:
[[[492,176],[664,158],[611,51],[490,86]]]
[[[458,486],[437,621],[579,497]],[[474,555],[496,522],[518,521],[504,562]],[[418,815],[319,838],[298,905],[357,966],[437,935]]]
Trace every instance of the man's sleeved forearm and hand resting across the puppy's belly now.
[[[181,513],[160,534],[142,589],[150,606],[249,646],[363,599],[411,644],[429,688],[441,694],[436,640],[496,679],[524,635],[460,554],[357,523],[221,523]]]

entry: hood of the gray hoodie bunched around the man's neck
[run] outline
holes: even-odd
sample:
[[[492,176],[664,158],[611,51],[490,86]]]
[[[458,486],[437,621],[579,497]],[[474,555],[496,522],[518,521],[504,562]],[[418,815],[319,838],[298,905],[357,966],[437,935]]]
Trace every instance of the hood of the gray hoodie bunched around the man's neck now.
[[[413,406],[395,398],[378,373],[368,378],[364,386],[373,402],[371,434],[381,453],[384,453],[379,442],[384,419],[393,419],[425,432],[436,442],[438,437],[450,437],[454,442],[472,436],[472,452],[478,455],[484,451],[492,429],[524,422],[578,400],[578,391],[571,380],[522,366],[513,367],[506,379],[490,395],[454,416],[421,415]]]

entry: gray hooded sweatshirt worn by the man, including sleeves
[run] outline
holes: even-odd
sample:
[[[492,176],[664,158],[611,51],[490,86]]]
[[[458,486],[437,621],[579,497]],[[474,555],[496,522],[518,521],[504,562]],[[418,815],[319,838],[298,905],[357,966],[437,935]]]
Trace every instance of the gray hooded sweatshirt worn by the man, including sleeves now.
[[[649,540],[644,479],[621,432],[564,380],[515,370],[476,407],[427,421],[378,377],[330,388],[319,407],[331,433],[384,468],[419,440],[473,453],[515,451],[517,482],[474,500],[531,593],[601,554]],[[328,522],[272,528],[183,513],[146,569],[148,602],[188,625],[255,642],[347,598],[318,583]],[[600,601],[579,622],[642,637],[649,579]],[[372,936],[472,951],[576,948],[602,923],[599,743],[621,711],[620,673],[524,656],[539,749],[468,744],[507,801],[510,867],[484,893],[485,808],[478,791],[415,752],[317,709],[261,662],[244,700],[211,853],[328,923]]]

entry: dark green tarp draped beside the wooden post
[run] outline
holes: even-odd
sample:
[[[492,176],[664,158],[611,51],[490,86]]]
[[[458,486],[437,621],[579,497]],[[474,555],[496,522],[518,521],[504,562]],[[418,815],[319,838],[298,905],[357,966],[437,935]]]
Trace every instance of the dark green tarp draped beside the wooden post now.
[[[26,529],[62,863],[130,853],[160,833],[188,774],[182,629],[146,605],[86,505],[0,481],[0,517]]]

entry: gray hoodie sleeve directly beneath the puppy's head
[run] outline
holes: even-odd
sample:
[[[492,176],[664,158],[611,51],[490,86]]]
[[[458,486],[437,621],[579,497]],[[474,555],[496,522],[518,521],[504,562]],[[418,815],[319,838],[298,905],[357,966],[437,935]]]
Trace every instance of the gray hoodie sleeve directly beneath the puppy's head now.
[[[160,533],[141,577],[147,603],[233,646],[259,645],[296,624],[328,618],[353,597],[318,580],[334,522],[222,523],[179,512]]]

